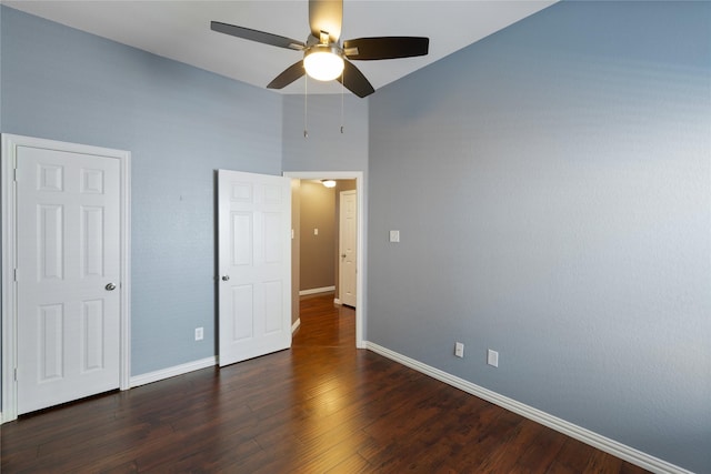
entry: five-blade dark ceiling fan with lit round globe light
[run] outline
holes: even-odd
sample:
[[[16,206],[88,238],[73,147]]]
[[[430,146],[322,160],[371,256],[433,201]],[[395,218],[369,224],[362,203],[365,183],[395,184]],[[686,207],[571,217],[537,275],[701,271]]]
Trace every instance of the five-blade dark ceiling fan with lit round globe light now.
[[[311,32],[306,42],[250,28],[210,22],[210,28],[263,44],[303,52],[303,59],[291,64],[273,81],[269,89],[282,89],[308,73],[320,81],[338,80],[360,98],[375,92],[368,79],[350,61],[373,61],[425,56],[430,40],[422,37],[377,37],[346,40],[341,44],[343,0],[309,0]]]

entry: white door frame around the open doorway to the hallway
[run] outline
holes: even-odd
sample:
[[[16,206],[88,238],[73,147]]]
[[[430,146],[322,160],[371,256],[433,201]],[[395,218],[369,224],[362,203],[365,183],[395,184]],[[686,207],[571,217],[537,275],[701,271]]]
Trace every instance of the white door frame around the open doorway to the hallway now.
[[[367,349],[363,340],[365,321],[365,223],[368,211],[365,209],[365,183],[362,171],[284,171],[283,175],[297,180],[356,180],[356,193],[358,205],[358,255],[356,265],[356,347]],[[293,220],[292,220],[293,221]]]

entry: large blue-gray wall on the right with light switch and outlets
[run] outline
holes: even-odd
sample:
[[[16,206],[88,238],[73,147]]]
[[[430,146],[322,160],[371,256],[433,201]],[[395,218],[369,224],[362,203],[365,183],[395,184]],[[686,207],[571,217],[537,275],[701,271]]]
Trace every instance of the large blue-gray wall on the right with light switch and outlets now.
[[[367,339],[711,472],[710,19],[563,2],[375,92]]]

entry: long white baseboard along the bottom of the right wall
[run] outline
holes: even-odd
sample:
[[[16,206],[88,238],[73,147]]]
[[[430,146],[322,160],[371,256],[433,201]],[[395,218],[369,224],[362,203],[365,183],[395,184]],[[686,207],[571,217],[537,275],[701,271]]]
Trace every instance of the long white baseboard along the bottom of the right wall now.
[[[667,461],[660,460],[650,454],[647,454],[633,447],[627,446],[614,440],[610,440],[609,437],[602,436],[601,434],[594,433],[590,430],[587,430],[584,427],[567,422],[565,420],[553,416],[541,410],[525,405],[521,402],[517,402],[513,399],[509,399],[507,396],[500,395],[488,389],[484,389],[469,381],[465,381],[463,379],[449,374],[444,371],[440,371],[439,369],[434,369],[430,365],[423,364],[419,361],[415,361],[414,359],[410,359],[405,355],[399,354],[381,345],[374,344],[369,341],[364,341],[364,346],[365,349],[372,352],[375,352],[384,357],[399,362],[402,365],[407,365],[410,369],[414,369],[415,371],[421,372],[424,375],[429,375],[432,379],[437,379],[441,382],[444,382],[448,385],[454,386],[461,391],[464,391],[482,400],[491,402],[505,410],[509,410],[523,417],[532,420],[537,423],[540,423],[544,426],[555,430],[557,432],[563,433],[570,437],[573,437],[578,441],[581,441],[585,444],[597,447],[600,451],[604,451],[605,453],[612,454],[613,456],[628,461],[637,466],[643,467],[653,473],[692,474],[690,471],[687,471],[674,464],[668,463]]]

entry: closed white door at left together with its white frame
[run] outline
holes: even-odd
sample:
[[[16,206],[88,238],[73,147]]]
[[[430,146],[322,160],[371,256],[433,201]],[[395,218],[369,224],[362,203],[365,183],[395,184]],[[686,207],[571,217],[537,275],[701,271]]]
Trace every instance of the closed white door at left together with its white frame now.
[[[2,135],[2,422],[129,387],[129,165]]]

